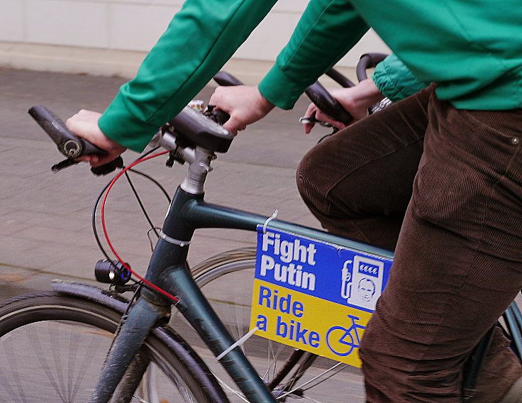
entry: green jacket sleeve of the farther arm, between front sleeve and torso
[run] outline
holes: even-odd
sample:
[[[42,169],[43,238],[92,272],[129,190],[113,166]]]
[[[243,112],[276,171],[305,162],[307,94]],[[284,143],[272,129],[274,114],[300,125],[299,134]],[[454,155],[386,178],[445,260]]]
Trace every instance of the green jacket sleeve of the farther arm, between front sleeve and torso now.
[[[368,31],[350,0],[311,0],[289,43],[259,84],[265,98],[291,109],[304,89]]]

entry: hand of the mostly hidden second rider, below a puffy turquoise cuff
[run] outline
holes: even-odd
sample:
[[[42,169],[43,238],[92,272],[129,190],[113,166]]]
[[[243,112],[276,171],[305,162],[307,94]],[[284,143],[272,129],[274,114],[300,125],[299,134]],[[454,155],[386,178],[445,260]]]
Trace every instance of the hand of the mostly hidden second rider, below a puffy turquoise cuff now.
[[[382,92],[379,91],[373,80],[365,79],[355,87],[328,89],[328,92],[337,99],[337,101],[353,116],[354,121],[360,120],[368,116],[368,108],[384,98]],[[304,114],[305,118],[316,118],[318,121],[331,123],[336,128],[342,129],[346,125],[340,121],[336,121],[315,104],[310,104]],[[315,123],[305,123],[304,133],[310,133]]]

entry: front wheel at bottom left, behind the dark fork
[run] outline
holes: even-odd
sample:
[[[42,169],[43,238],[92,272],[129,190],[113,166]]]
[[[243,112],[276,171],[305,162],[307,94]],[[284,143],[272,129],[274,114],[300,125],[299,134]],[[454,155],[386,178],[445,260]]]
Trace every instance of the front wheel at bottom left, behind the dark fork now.
[[[0,304],[0,400],[87,402],[120,319],[104,304],[58,292]],[[194,352],[166,332],[153,329],[140,348],[147,370],[138,389],[111,402],[215,401]]]

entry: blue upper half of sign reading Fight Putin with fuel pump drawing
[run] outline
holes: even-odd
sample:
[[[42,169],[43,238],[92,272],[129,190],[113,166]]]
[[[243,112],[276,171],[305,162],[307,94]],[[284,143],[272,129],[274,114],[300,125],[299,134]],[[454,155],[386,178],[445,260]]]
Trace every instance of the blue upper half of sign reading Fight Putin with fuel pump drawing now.
[[[367,312],[387,283],[392,260],[262,227],[255,278]]]

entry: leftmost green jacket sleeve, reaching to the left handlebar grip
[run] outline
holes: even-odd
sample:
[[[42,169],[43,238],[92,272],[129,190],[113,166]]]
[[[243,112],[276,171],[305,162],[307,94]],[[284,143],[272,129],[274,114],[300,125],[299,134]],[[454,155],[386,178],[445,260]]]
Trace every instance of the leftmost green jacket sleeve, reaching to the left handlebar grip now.
[[[99,119],[135,151],[176,116],[239,48],[277,0],[187,0]]]

